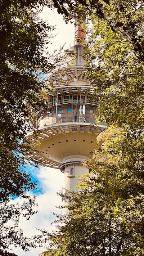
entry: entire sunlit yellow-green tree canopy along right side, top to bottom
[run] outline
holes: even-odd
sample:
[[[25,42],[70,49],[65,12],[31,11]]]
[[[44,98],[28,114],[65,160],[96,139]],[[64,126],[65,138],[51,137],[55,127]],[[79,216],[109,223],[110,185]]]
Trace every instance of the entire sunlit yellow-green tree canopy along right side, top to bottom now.
[[[90,174],[80,177],[80,191],[62,195],[69,213],[58,216],[41,255],[144,255],[143,1],[74,3],[73,17],[91,21],[84,57],[97,87],[96,122],[108,128],[84,163]]]

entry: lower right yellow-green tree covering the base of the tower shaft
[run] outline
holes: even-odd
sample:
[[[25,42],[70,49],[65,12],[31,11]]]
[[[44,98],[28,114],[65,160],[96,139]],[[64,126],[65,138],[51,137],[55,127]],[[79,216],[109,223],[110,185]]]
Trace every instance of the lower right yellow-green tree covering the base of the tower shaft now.
[[[85,163],[91,173],[81,177],[79,193],[63,195],[70,212],[59,216],[41,255],[144,255],[143,144],[116,127],[99,140],[100,151]]]

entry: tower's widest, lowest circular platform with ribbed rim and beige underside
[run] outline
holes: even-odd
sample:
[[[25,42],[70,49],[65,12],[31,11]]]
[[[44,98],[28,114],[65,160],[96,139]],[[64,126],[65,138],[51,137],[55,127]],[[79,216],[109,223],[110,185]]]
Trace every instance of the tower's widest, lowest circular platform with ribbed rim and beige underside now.
[[[60,123],[41,127],[38,131],[39,146],[28,152],[27,157],[40,160],[41,165],[59,168],[64,158],[76,155],[91,157],[93,149],[99,149],[96,137],[106,125],[90,123]]]

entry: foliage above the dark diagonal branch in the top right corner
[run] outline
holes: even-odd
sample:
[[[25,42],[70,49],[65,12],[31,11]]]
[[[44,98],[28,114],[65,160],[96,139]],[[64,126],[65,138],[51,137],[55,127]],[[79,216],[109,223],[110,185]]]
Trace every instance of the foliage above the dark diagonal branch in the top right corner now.
[[[94,1],[57,1],[54,7],[58,13],[64,13],[76,22],[85,22],[94,16],[98,22],[107,24],[113,33],[119,32],[122,36],[130,39],[135,52],[141,60],[144,60],[144,38],[143,38],[143,1],[130,0],[94,0]]]

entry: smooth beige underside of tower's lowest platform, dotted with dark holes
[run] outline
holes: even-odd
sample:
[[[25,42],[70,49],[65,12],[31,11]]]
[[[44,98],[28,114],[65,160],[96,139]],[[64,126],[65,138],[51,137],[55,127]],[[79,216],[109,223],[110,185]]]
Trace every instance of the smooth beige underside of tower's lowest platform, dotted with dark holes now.
[[[39,151],[41,155],[58,163],[67,156],[77,155],[90,157],[90,151],[98,149],[95,134],[67,133],[46,138],[42,141]]]

